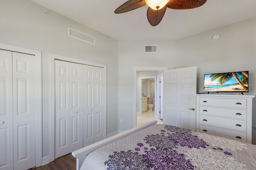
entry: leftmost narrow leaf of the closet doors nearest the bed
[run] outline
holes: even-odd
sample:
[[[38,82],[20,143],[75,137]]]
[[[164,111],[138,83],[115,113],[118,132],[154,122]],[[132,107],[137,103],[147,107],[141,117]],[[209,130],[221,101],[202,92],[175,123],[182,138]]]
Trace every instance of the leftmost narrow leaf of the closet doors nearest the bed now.
[[[55,60],[55,158],[69,153],[69,63]]]

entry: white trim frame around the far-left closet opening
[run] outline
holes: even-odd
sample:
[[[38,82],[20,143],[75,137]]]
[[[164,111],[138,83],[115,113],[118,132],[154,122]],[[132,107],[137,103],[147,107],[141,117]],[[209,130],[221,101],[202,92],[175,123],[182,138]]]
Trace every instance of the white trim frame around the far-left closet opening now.
[[[36,167],[42,166],[42,52],[0,43],[0,49],[35,56],[36,61]]]

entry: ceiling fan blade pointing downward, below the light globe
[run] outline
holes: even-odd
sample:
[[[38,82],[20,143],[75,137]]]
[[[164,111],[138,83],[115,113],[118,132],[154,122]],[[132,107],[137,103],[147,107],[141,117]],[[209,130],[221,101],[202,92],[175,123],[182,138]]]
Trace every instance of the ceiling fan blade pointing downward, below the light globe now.
[[[152,26],[158,25],[158,23],[160,23],[160,21],[164,17],[165,11],[166,11],[166,6],[164,6],[160,10],[152,10],[152,8],[148,7],[147,17],[150,25]]]

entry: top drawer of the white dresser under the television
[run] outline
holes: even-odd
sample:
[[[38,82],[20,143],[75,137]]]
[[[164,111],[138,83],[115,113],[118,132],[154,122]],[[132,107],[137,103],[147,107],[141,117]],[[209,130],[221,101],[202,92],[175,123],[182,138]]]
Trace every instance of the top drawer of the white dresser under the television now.
[[[218,106],[246,109],[246,99],[200,98],[200,106]]]

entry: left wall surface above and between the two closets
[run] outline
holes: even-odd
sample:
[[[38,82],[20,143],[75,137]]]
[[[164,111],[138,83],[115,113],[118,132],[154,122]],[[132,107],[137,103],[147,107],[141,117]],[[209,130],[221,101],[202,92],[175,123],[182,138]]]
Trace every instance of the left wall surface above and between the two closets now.
[[[96,45],[68,37],[68,27],[96,37]],[[0,43],[42,51],[43,157],[50,145],[50,53],[107,65],[107,133],[118,131],[117,40],[29,0],[1,0]]]

